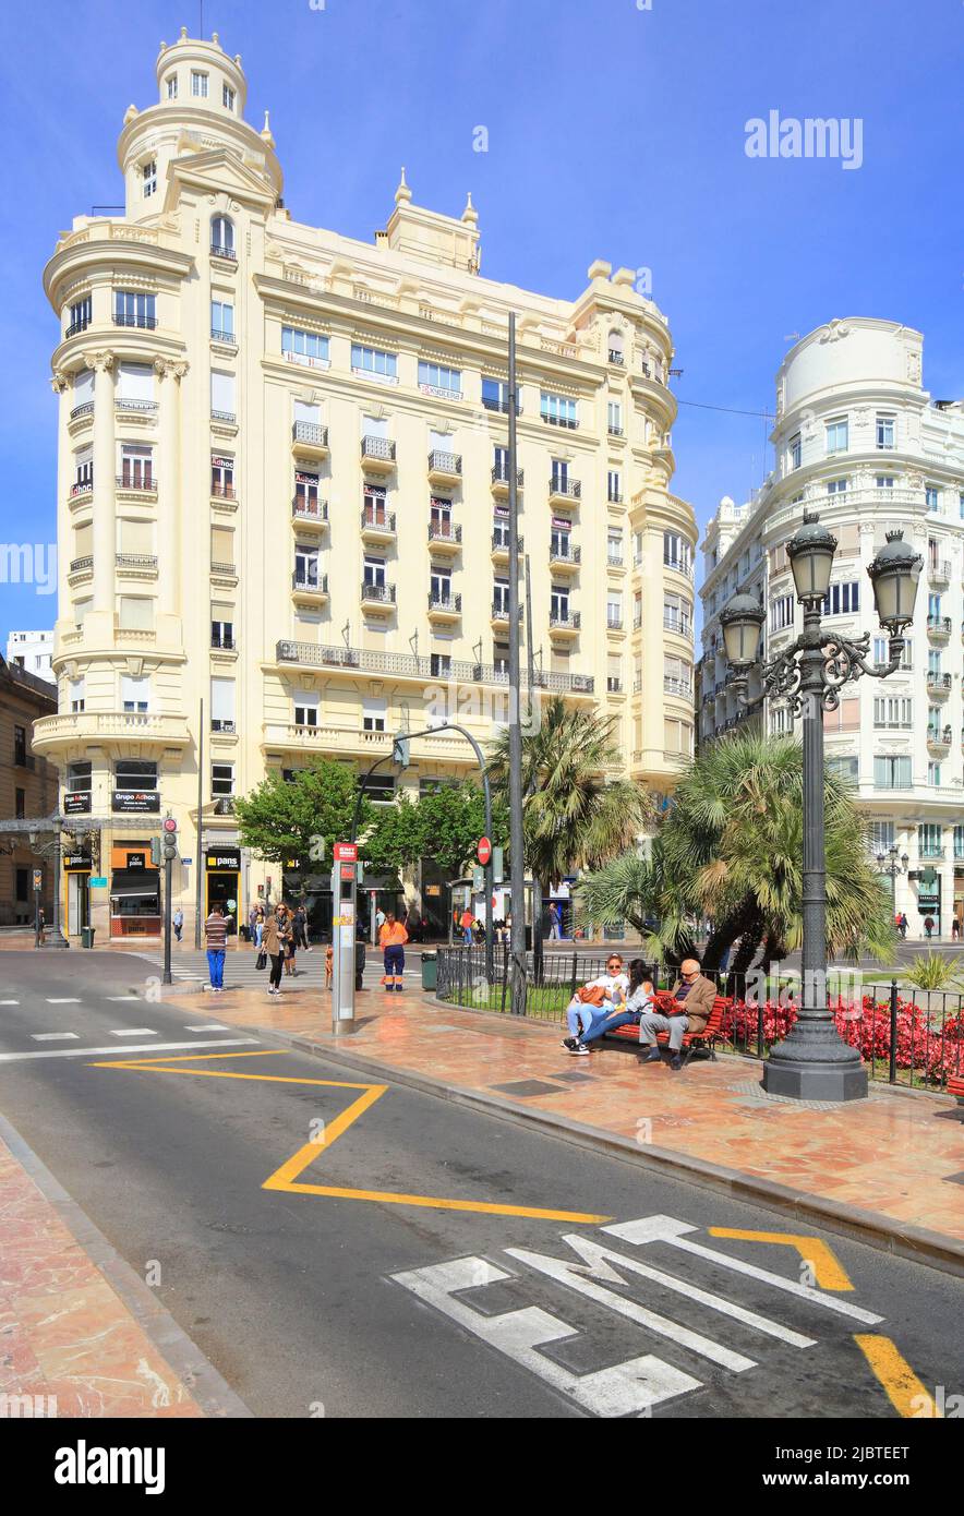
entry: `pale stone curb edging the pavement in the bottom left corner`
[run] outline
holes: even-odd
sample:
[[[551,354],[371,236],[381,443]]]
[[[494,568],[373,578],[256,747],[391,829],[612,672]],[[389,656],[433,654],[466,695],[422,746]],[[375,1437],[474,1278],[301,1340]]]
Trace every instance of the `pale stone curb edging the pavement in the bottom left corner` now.
[[[117,1248],[108,1242],[86,1211],[55,1179],[50,1169],[38,1158],[6,1116],[0,1116],[0,1137],[44,1199],[53,1207],[77,1246],[85,1251],[91,1263],[103,1273],[121,1305],[130,1313],[161,1357],[177,1373],[180,1383],[205,1416],[215,1420],[253,1419],[255,1413],[235,1395],[211,1360],[205,1357],[197,1343],[177,1325],[156,1293],[144,1284],[139,1273],[121,1258]]]

